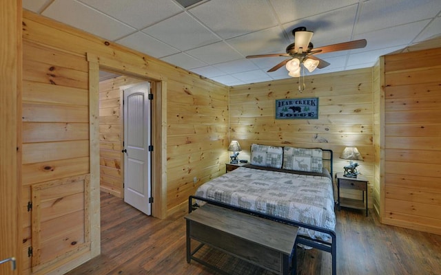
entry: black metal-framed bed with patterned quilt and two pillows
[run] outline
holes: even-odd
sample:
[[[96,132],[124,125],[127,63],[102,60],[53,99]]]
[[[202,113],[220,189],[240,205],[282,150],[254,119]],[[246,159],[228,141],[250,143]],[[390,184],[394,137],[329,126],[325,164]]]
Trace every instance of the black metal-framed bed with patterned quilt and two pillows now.
[[[252,144],[251,164],[200,186],[189,197],[189,212],[208,202],[298,226],[296,244],[331,253],[336,274],[332,173],[330,150]]]

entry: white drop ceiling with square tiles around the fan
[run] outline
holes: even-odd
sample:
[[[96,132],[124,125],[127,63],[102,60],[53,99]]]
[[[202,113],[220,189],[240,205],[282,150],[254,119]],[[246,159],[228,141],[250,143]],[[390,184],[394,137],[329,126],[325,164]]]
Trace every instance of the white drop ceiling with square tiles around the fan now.
[[[285,53],[299,26],[314,31],[314,47],[367,39],[363,49],[317,55],[331,65],[307,74],[372,67],[378,56],[441,41],[440,0],[23,0],[23,8],[229,86],[289,78],[285,67],[267,72],[284,57],[245,56]]]

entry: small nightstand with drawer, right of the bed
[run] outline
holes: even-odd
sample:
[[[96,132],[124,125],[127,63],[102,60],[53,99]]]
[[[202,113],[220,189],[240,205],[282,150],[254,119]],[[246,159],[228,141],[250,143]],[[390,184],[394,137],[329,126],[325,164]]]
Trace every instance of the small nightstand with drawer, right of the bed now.
[[[341,206],[355,209],[365,209],[367,217],[367,178],[363,175],[358,175],[358,177],[345,177],[343,173],[337,173],[336,178],[338,210],[340,210]],[[342,198],[340,197],[340,188],[361,190],[363,192],[362,199]]]

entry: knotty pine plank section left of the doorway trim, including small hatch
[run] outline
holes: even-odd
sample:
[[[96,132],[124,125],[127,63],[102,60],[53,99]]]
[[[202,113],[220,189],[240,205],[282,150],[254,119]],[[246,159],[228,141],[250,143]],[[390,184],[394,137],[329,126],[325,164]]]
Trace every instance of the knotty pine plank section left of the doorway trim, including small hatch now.
[[[23,274],[90,250],[89,191],[78,179],[90,173],[88,80],[85,58],[24,39]]]

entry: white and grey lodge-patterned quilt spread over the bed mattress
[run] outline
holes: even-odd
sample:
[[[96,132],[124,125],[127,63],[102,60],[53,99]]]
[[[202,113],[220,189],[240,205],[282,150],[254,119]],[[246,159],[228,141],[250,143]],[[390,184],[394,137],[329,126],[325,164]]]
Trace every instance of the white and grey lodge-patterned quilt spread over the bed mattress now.
[[[329,177],[240,167],[207,181],[196,196],[329,230],[336,226]],[[298,234],[329,239],[328,234],[306,228],[299,228]]]

